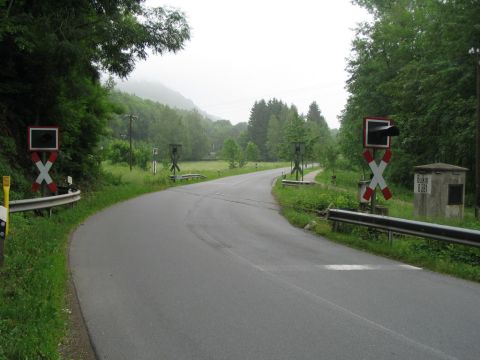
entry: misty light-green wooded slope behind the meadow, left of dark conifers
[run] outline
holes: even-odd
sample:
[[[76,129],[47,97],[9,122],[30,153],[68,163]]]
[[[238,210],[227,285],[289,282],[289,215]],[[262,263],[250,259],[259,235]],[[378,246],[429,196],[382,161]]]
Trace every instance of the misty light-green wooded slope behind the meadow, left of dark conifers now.
[[[108,122],[109,134],[104,137],[106,147],[127,147],[127,137],[132,121],[132,140],[135,148],[159,149],[162,159],[168,158],[168,144],[181,144],[183,160],[214,159],[220,156],[225,140],[239,141],[247,130],[246,123],[232,125],[228,120],[212,121],[196,110],[181,110],[134,95],[113,91],[109,100],[120,110]],[[129,151],[128,149],[126,151]],[[108,154],[107,154],[108,155]],[[128,158],[126,154],[124,159]],[[150,160],[150,157],[149,157]]]

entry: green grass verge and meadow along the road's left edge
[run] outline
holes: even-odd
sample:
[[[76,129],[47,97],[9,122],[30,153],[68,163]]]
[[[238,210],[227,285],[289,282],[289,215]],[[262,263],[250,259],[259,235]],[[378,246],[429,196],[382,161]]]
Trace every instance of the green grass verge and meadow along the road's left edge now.
[[[254,164],[232,170],[224,162],[180,166],[187,172],[199,170],[209,179],[255,171]],[[280,166],[285,164],[259,163],[258,170]],[[104,168],[108,184],[82,193],[82,200],[72,208],[55,209],[51,218],[11,214],[5,263],[0,268],[0,359],[61,358],[60,343],[69,326],[69,234],[101,209],[176,185],[165,171],[153,176],[136,168],[130,172],[128,166],[105,164]]]

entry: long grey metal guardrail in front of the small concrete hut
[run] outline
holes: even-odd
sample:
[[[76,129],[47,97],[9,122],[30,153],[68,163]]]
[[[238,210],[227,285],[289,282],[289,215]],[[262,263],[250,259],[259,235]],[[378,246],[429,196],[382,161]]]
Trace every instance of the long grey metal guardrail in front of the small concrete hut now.
[[[338,209],[329,209],[327,219],[369,226],[389,232],[480,247],[480,231],[478,230]]]

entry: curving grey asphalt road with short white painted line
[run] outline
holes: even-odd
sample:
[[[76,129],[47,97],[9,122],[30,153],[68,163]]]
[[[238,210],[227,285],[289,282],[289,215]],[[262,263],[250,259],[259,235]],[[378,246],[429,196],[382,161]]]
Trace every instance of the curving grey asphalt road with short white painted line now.
[[[480,359],[480,286],[290,226],[280,170],[113,206],[73,235],[99,359]]]

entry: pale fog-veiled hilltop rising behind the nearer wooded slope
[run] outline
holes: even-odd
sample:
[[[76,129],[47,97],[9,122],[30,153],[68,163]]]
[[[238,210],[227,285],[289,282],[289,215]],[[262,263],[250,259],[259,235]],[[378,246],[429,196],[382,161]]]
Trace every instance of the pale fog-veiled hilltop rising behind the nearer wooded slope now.
[[[200,114],[212,120],[220,118],[200,109],[195,103],[185,96],[159,82],[128,80],[118,82],[115,86],[118,90],[136,95],[143,99],[149,99],[181,110],[197,110]]]

